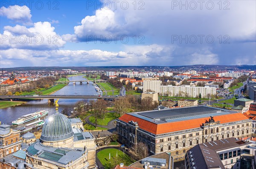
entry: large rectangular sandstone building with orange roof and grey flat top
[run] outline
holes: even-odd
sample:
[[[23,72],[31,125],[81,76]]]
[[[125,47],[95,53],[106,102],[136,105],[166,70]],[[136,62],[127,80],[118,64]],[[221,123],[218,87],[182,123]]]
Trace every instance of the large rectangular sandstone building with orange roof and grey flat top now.
[[[121,143],[134,147],[142,141],[152,154],[170,152],[176,160],[198,143],[252,132],[251,120],[242,113],[207,106],[126,113],[116,121]]]

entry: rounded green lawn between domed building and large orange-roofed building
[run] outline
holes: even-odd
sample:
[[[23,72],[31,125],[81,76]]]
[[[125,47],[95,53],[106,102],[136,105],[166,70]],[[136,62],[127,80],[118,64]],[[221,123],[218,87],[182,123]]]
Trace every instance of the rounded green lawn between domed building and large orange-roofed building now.
[[[125,166],[129,166],[130,164],[135,162],[123,151],[120,151],[118,149],[104,149],[97,153],[97,157],[99,158],[100,162],[105,167],[105,169],[111,169],[112,167],[115,167],[117,164],[120,163],[124,163]]]

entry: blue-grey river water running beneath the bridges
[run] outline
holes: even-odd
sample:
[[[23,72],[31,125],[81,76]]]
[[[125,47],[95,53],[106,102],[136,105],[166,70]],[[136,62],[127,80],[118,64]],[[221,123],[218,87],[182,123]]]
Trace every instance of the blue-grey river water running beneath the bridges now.
[[[73,76],[69,77],[68,79],[70,81],[85,80],[83,76]],[[89,84],[87,84],[87,82],[83,82],[82,84],[80,84],[80,82],[76,82],[74,85],[73,82],[70,82],[67,86],[58,90],[52,95],[96,95],[98,92],[96,92],[95,87],[92,84],[92,82],[89,82]],[[80,100],[82,99],[59,99],[59,112],[61,112],[65,107],[73,108],[76,102]],[[47,99],[29,101],[20,106],[0,109],[0,121],[2,124],[6,123],[12,125],[12,121],[18,117],[29,113],[34,113],[39,110],[46,110],[49,112],[48,115],[52,115],[55,112],[55,106],[53,103],[48,103]],[[47,118],[47,116],[45,118]],[[32,121],[29,123],[31,122]]]

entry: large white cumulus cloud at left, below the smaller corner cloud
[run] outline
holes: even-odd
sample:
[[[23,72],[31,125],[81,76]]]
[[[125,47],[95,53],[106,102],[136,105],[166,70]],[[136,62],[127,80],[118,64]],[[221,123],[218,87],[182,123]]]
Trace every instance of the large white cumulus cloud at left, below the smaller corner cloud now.
[[[5,26],[3,34],[0,34],[2,49],[58,49],[66,43],[54,32],[54,27],[49,22],[37,22],[34,26]]]

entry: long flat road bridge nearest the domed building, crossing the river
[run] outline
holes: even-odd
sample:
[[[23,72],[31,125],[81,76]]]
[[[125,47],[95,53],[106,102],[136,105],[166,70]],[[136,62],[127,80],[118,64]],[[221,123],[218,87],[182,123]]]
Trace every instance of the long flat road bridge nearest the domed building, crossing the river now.
[[[53,102],[54,99],[123,99],[122,96],[102,96],[102,95],[24,95],[24,96],[0,96],[2,100],[14,99],[48,99],[48,102]]]

